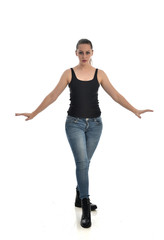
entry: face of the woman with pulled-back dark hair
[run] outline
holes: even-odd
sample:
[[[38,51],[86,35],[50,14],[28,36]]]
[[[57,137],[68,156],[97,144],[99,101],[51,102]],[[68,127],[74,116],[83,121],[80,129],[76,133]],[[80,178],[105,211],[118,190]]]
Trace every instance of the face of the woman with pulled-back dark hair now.
[[[93,50],[91,49],[90,44],[79,44],[78,49],[75,51],[76,56],[79,58],[80,64],[90,63],[90,58],[93,55]]]

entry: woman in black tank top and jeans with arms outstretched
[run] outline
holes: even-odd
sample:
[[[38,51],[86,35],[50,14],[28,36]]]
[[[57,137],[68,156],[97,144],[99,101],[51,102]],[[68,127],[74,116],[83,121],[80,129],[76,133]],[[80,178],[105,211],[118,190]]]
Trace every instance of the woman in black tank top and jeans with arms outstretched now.
[[[66,135],[76,163],[76,199],[75,206],[82,207],[81,226],[91,226],[91,210],[97,208],[90,203],[88,171],[90,160],[102,133],[101,110],[98,102],[98,89],[103,89],[114,101],[141,118],[141,114],[152,110],[138,110],[117,92],[111,85],[107,75],[91,65],[93,46],[88,39],[81,39],[76,45],[76,55],[79,64],[63,72],[55,89],[50,92],[39,107],[32,113],[17,113],[25,120],[33,119],[38,113],[52,104],[68,85],[70,88],[70,107],[65,123]]]

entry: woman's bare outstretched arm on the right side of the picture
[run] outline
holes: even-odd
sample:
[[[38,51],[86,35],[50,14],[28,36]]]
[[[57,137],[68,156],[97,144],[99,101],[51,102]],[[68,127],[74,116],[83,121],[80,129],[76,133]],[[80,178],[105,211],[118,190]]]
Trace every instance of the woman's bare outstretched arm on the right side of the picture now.
[[[136,109],[112,86],[112,84],[110,83],[104,71],[100,70],[99,76],[100,76],[101,86],[113,98],[113,100],[119,103],[124,108],[133,112],[137,117],[141,118],[140,115],[145,112],[153,112],[153,110],[150,110],[150,109],[145,109],[145,110]]]

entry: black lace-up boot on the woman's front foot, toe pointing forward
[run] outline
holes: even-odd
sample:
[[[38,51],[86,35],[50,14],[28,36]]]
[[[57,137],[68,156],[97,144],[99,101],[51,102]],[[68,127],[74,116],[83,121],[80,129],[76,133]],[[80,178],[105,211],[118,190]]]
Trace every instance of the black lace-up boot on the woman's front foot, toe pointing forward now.
[[[89,228],[91,226],[91,205],[89,198],[82,199],[81,205],[82,205],[81,226],[83,228]]]

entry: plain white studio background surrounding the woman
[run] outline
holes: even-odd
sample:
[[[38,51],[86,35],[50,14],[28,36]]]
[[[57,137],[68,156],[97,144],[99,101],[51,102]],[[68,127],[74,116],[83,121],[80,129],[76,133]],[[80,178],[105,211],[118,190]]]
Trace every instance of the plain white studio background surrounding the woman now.
[[[164,239],[164,7],[161,0],[0,2],[0,238]],[[69,88],[31,121],[31,112],[78,64],[79,39],[93,66],[142,119],[100,87],[103,133],[90,169],[91,229],[74,211],[75,166],[65,134]],[[78,216],[79,217],[79,216]],[[77,217],[77,218],[78,218]],[[57,220],[58,219],[58,220]]]

